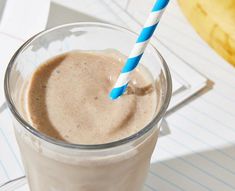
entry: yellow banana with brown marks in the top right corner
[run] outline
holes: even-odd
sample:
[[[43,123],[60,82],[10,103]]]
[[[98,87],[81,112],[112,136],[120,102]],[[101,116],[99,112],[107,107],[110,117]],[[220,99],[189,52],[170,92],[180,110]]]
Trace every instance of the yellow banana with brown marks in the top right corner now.
[[[199,35],[235,66],[235,0],[178,0]]]

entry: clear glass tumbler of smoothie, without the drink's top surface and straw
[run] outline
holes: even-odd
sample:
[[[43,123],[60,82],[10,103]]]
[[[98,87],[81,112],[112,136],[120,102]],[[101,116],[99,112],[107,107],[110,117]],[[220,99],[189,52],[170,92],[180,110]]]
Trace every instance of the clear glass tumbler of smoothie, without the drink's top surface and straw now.
[[[97,145],[70,144],[34,129],[22,106],[21,93],[45,60],[70,50],[116,49],[128,55],[137,35],[102,23],[72,23],[43,31],[12,57],[5,75],[5,94],[26,177],[32,191],[140,191],[171,97],[171,78],[160,53],[150,44],[141,64],[157,92],[154,117],[138,133]],[[108,96],[108,95],[107,95]]]

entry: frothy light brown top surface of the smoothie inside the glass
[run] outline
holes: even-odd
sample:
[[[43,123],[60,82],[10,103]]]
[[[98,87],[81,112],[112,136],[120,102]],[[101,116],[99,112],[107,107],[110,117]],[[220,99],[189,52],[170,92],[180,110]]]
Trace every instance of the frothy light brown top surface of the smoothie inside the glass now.
[[[156,95],[144,71],[131,76],[127,94],[108,97],[123,66],[103,53],[73,51],[52,58],[33,74],[27,95],[32,125],[51,137],[101,144],[128,137],[153,117]]]

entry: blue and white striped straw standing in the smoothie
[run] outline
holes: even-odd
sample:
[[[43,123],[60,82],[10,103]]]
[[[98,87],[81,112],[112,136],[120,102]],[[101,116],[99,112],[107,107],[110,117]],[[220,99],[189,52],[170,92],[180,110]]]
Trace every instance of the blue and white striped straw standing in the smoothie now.
[[[134,48],[132,49],[124,67],[122,68],[121,74],[119,75],[114,88],[110,92],[111,99],[117,99],[126,91],[128,82],[130,80],[130,73],[138,65],[168,2],[169,0],[156,0],[156,3],[154,4],[153,9],[148,16],[144,28],[142,29],[134,45]]]

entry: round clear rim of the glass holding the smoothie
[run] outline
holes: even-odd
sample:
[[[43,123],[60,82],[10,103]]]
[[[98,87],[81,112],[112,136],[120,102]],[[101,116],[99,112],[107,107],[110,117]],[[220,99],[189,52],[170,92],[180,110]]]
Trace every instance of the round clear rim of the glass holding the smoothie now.
[[[161,56],[161,54],[159,53],[159,51],[152,45],[152,43],[149,43],[149,46],[151,46],[154,51],[156,51],[156,53],[158,54],[158,57],[161,60],[161,64],[162,64],[162,69],[164,70],[164,73],[166,75],[166,94],[165,97],[163,99],[163,105],[161,106],[159,112],[157,113],[157,115],[147,124],[145,125],[145,127],[143,127],[140,131],[136,132],[133,135],[130,135],[128,137],[125,137],[123,139],[117,140],[117,141],[113,141],[113,142],[109,142],[109,143],[103,143],[103,144],[74,144],[74,143],[68,143],[68,142],[64,142],[61,140],[57,140],[55,138],[52,138],[50,136],[47,136],[43,133],[40,133],[38,130],[36,130],[35,128],[33,128],[18,112],[18,110],[15,107],[15,104],[12,100],[11,94],[10,94],[10,88],[9,88],[9,80],[10,80],[10,75],[11,75],[11,68],[14,66],[15,64],[15,60],[17,58],[17,56],[22,52],[22,50],[24,50],[25,47],[27,47],[28,45],[30,45],[30,43],[39,38],[40,36],[60,29],[60,28],[64,28],[64,27],[69,27],[69,26],[77,26],[77,27],[85,27],[85,26],[90,26],[90,27],[103,27],[103,28],[111,28],[111,29],[115,29],[124,33],[129,33],[129,35],[134,35],[135,37],[138,37],[138,34],[126,29],[122,26],[118,26],[118,25],[113,25],[113,24],[106,24],[106,23],[101,23],[101,22],[76,22],[76,23],[69,23],[69,24],[64,24],[64,25],[59,25],[50,29],[46,29],[43,30],[39,33],[37,33],[36,35],[34,35],[33,37],[31,37],[29,40],[27,40],[25,43],[23,43],[23,45],[21,45],[21,47],[15,52],[15,54],[12,56],[11,60],[9,61],[9,64],[7,66],[6,72],[5,72],[5,78],[4,78],[4,92],[5,92],[5,98],[6,98],[6,102],[7,105],[11,111],[11,113],[13,114],[14,118],[29,132],[32,133],[33,135],[35,135],[38,138],[41,138],[42,140],[49,142],[51,144],[57,145],[57,146],[62,146],[62,147],[66,147],[66,148],[72,148],[72,149],[82,149],[82,150],[97,150],[97,149],[107,149],[107,148],[112,148],[112,147],[116,147],[116,146],[120,146],[129,142],[132,142],[134,140],[137,140],[138,138],[144,136],[147,134],[147,132],[149,132],[151,129],[153,129],[153,127],[162,119],[162,117],[164,116],[167,107],[170,103],[170,99],[171,99],[171,94],[172,94],[172,81],[171,81],[171,75],[170,75],[170,71],[169,68],[164,60],[164,58]]]

